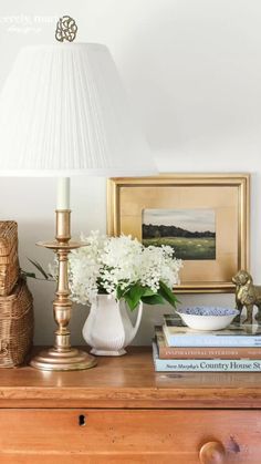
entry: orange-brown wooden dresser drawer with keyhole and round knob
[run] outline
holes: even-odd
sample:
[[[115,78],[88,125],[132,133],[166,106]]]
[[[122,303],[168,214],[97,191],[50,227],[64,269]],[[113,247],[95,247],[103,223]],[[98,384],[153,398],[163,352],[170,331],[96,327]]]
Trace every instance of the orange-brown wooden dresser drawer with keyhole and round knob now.
[[[1,410],[0,463],[260,464],[260,435],[259,411]]]

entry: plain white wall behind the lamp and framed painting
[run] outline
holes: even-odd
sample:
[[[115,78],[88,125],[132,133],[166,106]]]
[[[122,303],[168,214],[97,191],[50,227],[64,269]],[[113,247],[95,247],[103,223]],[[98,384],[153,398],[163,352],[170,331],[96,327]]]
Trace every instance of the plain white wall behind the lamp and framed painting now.
[[[0,86],[18,50],[53,41],[52,17],[71,14],[80,41],[111,49],[163,172],[252,173],[251,268],[261,281],[261,2],[259,0],[9,0],[0,4]],[[17,16],[17,18],[10,18]],[[34,16],[48,17],[39,23]],[[1,111],[1,109],[0,109]],[[1,149],[1,145],[0,145]],[[0,218],[19,223],[20,259],[48,264],[34,243],[53,236],[53,179],[0,179]],[[105,231],[105,181],[72,183],[74,235]],[[52,342],[52,283],[30,281],[35,342]],[[181,296],[184,305],[232,297]],[[159,308],[146,308],[137,343],[149,343]],[[75,308],[82,342],[86,308]]]

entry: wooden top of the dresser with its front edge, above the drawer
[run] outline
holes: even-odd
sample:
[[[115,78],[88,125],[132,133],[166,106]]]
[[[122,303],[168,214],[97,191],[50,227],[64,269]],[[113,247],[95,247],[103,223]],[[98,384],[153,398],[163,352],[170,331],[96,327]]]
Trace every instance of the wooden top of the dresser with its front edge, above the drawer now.
[[[86,371],[0,369],[0,406],[261,408],[261,373],[158,372],[152,348]]]

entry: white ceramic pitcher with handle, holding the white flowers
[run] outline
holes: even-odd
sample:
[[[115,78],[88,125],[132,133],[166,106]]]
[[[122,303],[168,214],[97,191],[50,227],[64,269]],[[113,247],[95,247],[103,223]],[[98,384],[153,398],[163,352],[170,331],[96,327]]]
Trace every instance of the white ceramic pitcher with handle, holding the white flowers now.
[[[83,338],[92,354],[118,357],[125,354],[127,347],[137,333],[143,316],[143,303],[137,310],[133,326],[125,301],[116,301],[109,295],[98,295],[91,306],[90,315],[83,327]]]

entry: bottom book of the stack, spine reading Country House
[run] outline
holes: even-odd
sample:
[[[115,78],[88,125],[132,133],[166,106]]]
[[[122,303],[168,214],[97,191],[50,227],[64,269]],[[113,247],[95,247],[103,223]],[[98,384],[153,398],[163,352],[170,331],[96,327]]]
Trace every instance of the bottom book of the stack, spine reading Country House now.
[[[156,372],[261,372],[261,360],[246,359],[159,359],[153,342]]]

